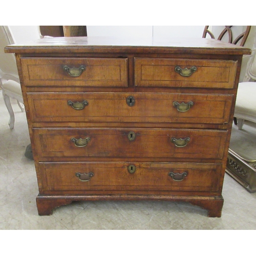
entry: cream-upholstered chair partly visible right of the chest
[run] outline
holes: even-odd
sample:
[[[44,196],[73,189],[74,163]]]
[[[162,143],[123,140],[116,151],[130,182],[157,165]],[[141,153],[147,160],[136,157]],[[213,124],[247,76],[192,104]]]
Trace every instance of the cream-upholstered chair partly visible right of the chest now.
[[[234,117],[241,130],[245,120],[256,123],[256,35],[243,82],[238,85]]]

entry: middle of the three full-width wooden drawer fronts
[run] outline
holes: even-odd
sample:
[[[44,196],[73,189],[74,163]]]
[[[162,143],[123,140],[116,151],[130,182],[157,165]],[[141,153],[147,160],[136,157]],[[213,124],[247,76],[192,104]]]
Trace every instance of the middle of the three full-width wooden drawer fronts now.
[[[35,128],[33,132],[42,161],[47,157],[221,159],[227,136],[227,131],[189,129]]]

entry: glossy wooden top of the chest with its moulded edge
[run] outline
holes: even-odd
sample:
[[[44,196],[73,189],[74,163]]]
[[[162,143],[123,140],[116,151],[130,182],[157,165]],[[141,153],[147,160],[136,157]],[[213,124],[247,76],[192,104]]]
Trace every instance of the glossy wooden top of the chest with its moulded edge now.
[[[250,49],[210,38],[46,37],[5,48],[8,53],[159,52],[250,54]]]

